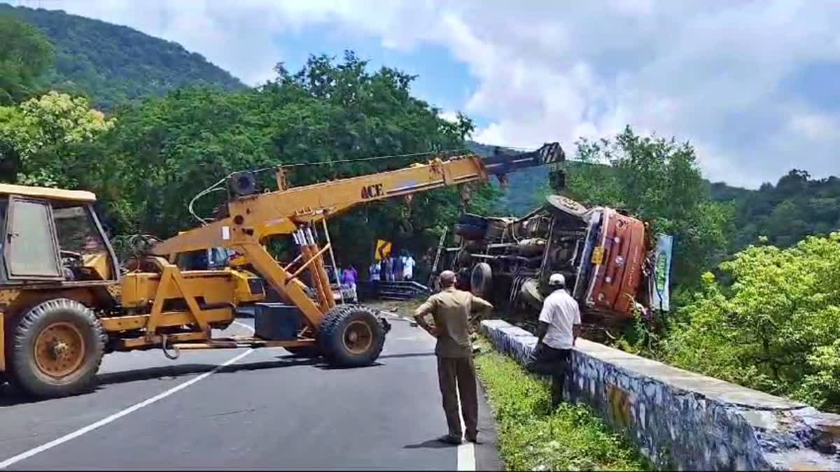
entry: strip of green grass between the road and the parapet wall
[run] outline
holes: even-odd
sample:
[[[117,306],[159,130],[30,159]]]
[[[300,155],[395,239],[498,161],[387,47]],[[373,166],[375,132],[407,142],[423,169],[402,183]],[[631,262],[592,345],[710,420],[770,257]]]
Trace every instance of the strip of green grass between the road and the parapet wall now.
[[[549,385],[480,341],[476,367],[499,429],[501,459],[509,470],[649,469],[622,435],[586,406],[551,410]]]

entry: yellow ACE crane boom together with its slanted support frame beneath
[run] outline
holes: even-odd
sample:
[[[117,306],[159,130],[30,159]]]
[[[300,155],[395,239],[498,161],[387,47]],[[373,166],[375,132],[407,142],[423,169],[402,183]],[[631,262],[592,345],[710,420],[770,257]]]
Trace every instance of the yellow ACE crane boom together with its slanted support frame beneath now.
[[[179,254],[213,247],[234,249],[265,278],[288,302],[296,305],[315,332],[329,311],[332,291],[324,283],[320,254],[312,239],[312,223],[345,212],[354,206],[390,197],[410,195],[443,186],[472,181],[486,181],[489,176],[536,165],[559,163],[565,159],[559,144],[544,144],[540,149],[520,155],[496,153],[482,159],[478,155],[459,155],[448,160],[435,158],[426,164],[415,164],[387,172],[327,181],[308,186],[286,187],[286,174],[277,170],[278,190],[260,193],[253,173],[237,173],[228,179],[228,217],[166,239],[152,248],[155,255]],[[263,246],[264,239],[293,234],[306,262],[294,273],[282,267]],[[308,268],[320,278],[313,283],[318,300],[307,294],[298,275]]]

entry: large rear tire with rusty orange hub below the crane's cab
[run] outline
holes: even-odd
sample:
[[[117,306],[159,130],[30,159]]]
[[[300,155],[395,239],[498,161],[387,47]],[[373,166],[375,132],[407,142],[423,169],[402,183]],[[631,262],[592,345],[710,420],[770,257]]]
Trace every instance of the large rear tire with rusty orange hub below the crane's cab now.
[[[89,391],[106,341],[99,319],[81,303],[66,298],[42,302],[14,330],[8,380],[43,398]]]

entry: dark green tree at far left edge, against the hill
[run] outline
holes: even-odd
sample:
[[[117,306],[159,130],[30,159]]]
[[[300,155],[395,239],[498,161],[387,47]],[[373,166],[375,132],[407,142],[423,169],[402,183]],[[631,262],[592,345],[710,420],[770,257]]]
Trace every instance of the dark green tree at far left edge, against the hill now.
[[[54,48],[31,24],[0,15],[0,105],[19,102],[52,65]]]

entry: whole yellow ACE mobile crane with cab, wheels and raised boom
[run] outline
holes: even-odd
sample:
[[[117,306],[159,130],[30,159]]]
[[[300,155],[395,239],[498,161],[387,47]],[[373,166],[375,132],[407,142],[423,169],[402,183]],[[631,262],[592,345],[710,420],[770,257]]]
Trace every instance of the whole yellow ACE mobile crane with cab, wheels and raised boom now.
[[[326,219],[365,202],[562,160],[552,143],[291,188],[280,166],[275,191],[261,191],[255,172],[237,172],[219,184],[228,190],[222,218],[145,248],[134,244],[123,267],[91,192],[0,185],[0,375],[33,396],[66,396],[89,389],[102,355],[113,351],[160,348],[174,358],[180,349],[284,347],[317,351],[333,364],[370,364],[389,327],[369,308],[336,305],[323,264],[332,250]],[[287,265],[264,245],[284,235],[300,249]],[[177,254],[218,247],[241,254],[239,264],[180,270],[174,263]],[[213,338],[213,328],[234,322],[236,307],[265,299],[265,282],[286,305],[262,317],[255,336]]]

